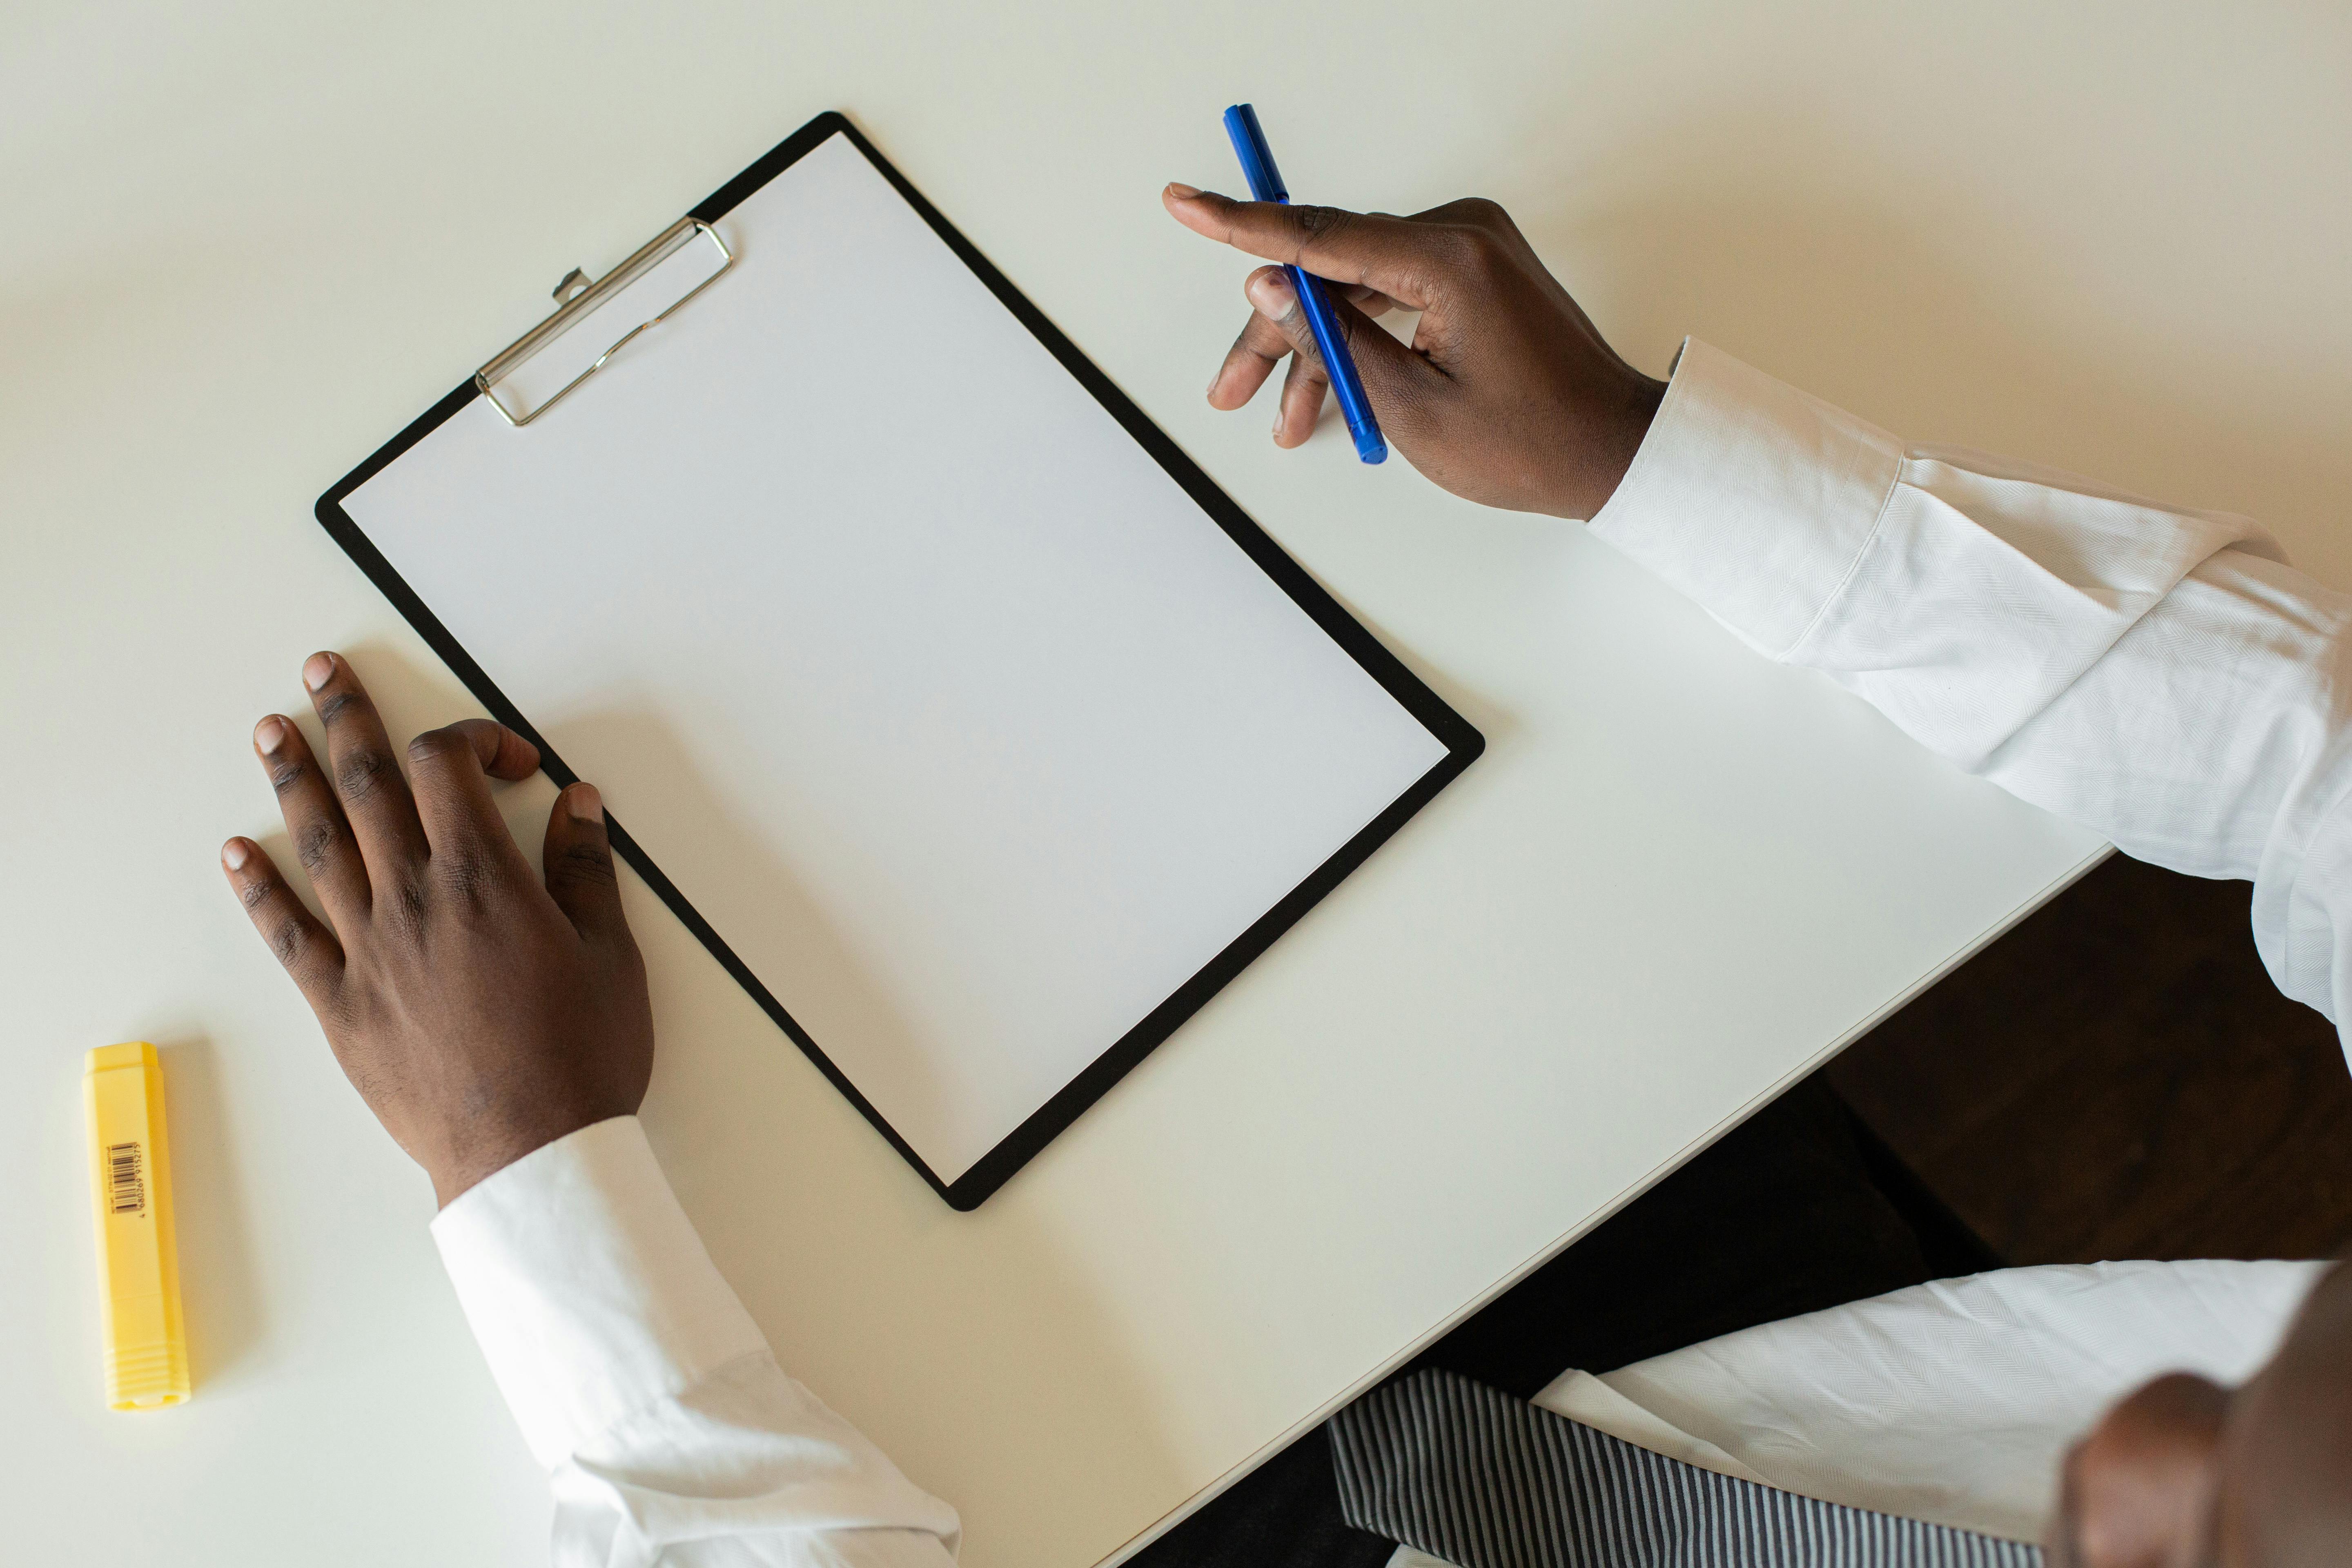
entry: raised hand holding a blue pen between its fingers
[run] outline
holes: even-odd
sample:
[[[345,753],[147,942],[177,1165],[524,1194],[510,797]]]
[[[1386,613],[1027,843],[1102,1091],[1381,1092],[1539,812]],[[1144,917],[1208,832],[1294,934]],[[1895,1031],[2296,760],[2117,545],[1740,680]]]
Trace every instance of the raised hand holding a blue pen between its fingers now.
[[[1663,381],[1602,341],[1510,214],[1463,200],[1397,219],[1336,207],[1235,202],[1169,186],[1185,228],[1341,284],[1348,355],[1390,444],[1465,501],[1592,517],[1616,491]],[[1249,402],[1287,355],[1275,444],[1315,433],[1329,376],[1279,266],[1244,282],[1251,317],[1209,383],[1209,404]],[[1418,310],[1411,346],[1371,317]]]

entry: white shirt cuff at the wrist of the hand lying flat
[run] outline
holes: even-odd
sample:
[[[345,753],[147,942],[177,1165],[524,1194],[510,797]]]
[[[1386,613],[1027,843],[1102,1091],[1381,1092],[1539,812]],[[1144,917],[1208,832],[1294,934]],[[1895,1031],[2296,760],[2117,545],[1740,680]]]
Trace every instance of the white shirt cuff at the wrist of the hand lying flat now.
[[[767,1352],[635,1117],[475,1182],[433,1220],[433,1241],[548,1469],[633,1410]]]

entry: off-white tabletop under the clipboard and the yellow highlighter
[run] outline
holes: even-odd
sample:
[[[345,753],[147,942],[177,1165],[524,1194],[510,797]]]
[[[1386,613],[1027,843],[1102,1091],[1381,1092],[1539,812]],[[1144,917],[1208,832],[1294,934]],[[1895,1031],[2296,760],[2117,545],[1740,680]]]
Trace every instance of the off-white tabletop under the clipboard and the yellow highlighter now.
[[[2352,578],[2338,7],[299,5],[0,14],[0,1497],[80,1563],[527,1563],[548,1500],[430,1194],[216,870],[348,649],[470,705],[320,489],[821,108],[1489,741],[976,1215],[628,886],[647,1124],[786,1366],[964,1512],[1117,1554],[2096,853],[1576,527],[1200,388],[1162,216],[1261,106],[1319,200],[1508,202],[1651,371],[1698,331],[1919,440],[2270,522]],[[517,585],[527,592],[527,585]],[[515,820],[543,780],[506,795]],[[195,1401],[111,1415],[82,1048],[165,1051]]]

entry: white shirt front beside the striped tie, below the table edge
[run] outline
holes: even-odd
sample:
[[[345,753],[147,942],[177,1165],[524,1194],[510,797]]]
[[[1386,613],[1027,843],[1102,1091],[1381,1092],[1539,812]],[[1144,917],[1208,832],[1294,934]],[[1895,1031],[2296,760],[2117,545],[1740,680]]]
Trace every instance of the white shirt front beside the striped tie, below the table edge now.
[[[2058,1462],[2173,1371],[2241,1382],[2324,1262],[2091,1262],[1938,1279],[1726,1333],[1536,1403],[1780,1490],[2042,1540]]]

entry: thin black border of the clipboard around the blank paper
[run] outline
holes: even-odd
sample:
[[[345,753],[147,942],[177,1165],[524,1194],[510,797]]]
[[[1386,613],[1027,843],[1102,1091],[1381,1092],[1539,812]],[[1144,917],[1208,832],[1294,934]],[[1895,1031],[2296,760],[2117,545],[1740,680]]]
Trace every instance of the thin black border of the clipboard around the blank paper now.
[[[910,186],[906,176],[898,174],[898,169],[894,169],[891,162],[882,158],[882,153],[877,153],[870,141],[866,141],[863,134],[858,134],[858,127],[854,127],[847,120],[847,115],[837,110],[816,115],[797,132],[786,136],[781,143],[776,143],[776,148],[769,150],[764,158],[760,158],[755,165],[750,165],[731,181],[713,190],[701,205],[694,207],[689,216],[701,219],[706,223],[715,223],[720,216],[734,209],[743,197],[748,197],[767,181],[776,179],[776,174],[795,165],[807,153],[816,150],[830,136],[849,136],[849,143],[858,153],[863,153],[875,169],[882,172],[882,179],[887,179],[891,188],[901,197],[906,197],[906,202],[915,212],[922,214],[922,221],[929,223],[931,230],[948,242],[948,249],[955,252],[955,256],[964,266],[969,266],[981,282],[988,284],[988,292],[995,294],[1004,303],[1004,308],[1011,310],[1014,317],[1018,317],[1018,322],[1028,327],[1056,360],[1061,360],[1063,369],[1077,376],[1080,386],[1094,393],[1094,400],[1101,402],[1103,409],[1108,409],[1110,416],[1120,421],[1120,425],[1131,437],[1136,437],[1136,442],[1148,454],[1152,454],[1152,458],[1169,473],[1171,480],[1176,480],[1176,484],[1183,487],[1183,491],[1195,501],[1195,505],[1200,505],[1200,510],[1204,510],[1228,534],[1228,538],[1232,538],[1232,543],[1242,545],[1249,559],[1254,559],[1258,569],[1265,571],[1265,576],[1279,583],[1282,592],[1287,592],[1298,604],[1298,609],[1303,609],[1308,616],[1315,618],[1315,625],[1319,625],[1334,642],[1338,642],[1348,651],[1348,656],[1364,668],[1367,675],[1381,682],[1381,686],[1385,686],[1388,693],[1397,698],[1397,703],[1402,703],[1404,710],[1411,712],[1446,748],[1446,757],[1437,766],[1423,773],[1404,795],[1397,797],[1395,804],[1390,804],[1362,832],[1348,839],[1338,849],[1338,853],[1334,853],[1329,860],[1315,867],[1315,875],[1310,875],[1305,882],[1291,889],[1291,893],[1284,896],[1272,910],[1261,914],[1223,952],[1209,959],[1209,964],[1204,964],[1200,973],[1178,985],[1176,994],[1171,994],[1167,1001],[1145,1013],[1145,1018],[1136,1027],[1131,1027],[1117,1044],[1112,1044],[1108,1051],[1094,1058],[1094,1063],[1089,1063],[1084,1072],[1070,1079],[1061,1088],[1061,1093],[1056,1093],[1051,1100],[1037,1107],[1028,1117],[1028,1121],[1016,1126],[997,1147],[983,1154],[969,1171],[964,1171],[953,1182],[938,1180],[931,1166],[927,1166],[922,1157],[908,1147],[908,1143],[896,1133],[896,1128],[891,1128],[891,1124],[884,1121],[873,1105],[868,1105],[866,1095],[856,1091],[856,1086],[842,1074],[842,1070],[833,1065],[833,1058],[828,1058],[816,1046],[816,1041],[809,1039],[809,1032],[802,1030],[788,1011],[783,1011],[783,1004],[776,1001],[776,997],[771,997],[764,985],[760,985],[760,978],[753,976],[750,966],[746,966],[743,959],[739,959],[734,950],[727,947],[720,933],[710,929],[710,922],[706,922],[701,912],[691,903],[687,903],[687,896],[677,891],[677,884],[670,882],[659,865],[654,865],[652,856],[644,853],[637,839],[633,839],[621,827],[619,820],[607,818],[614,849],[621,853],[623,860],[628,860],[637,870],[640,877],[644,877],[647,886],[652,886],[654,893],[661,896],[661,903],[670,905],[670,912],[677,914],[680,922],[684,922],[687,931],[691,931],[703,943],[703,947],[710,950],[710,957],[715,957],[720,966],[729,976],[734,976],[736,983],[746,992],[750,992],[762,1009],[767,1009],[767,1016],[776,1020],[776,1027],[781,1027],[793,1039],[793,1044],[797,1044],[807,1053],[807,1058],[816,1063],[816,1067],[833,1081],[833,1086],[842,1091],[842,1095],[851,1105],[858,1107],[858,1112],[875,1126],[875,1131],[882,1133],[882,1138],[887,1138],[889,1145],[898,1150],[898,1154],[910,1166],[915,1166],[927,1182],[931,1182],[931,1187],[938,1192],[938,1197],[948,1201],[950,1208],[971,1211],[978,1208],[988,1194],[1002,1187],[1014,1171],[1028,1164],[1030,1157],[1037,1154],[1037,1150],[1051,1143],[1065,1126],[1077,1121],[1077,1117],[1089,1105],[1101,1100],[1112,1084],[1117,1084],[1122,1077],[1127,1077],[1127,1072],[1136,1063],[1150,1056],[1152,1046],[1174,1034],[1185,1018],[1197,1013],[1209,1001],[1209,997],[1214,997],[1218,990],[1225,987],[1228,980],[1242,973],[1242,969],[1247,969],[1251,959],[1265,952],[1277,936],[1289,931],[1298,922],[1298,917],[1303,917],[1310,907],[1315,907],[1315,903],[1322,900],[1324,893],[1336,889],[1348,877],[1348,872],[1362,865],[1371,856],[1371,851],[1378,849],[1383,842],[1388,842],[1388,837],[1395,835],[1416,811],[1421,811],[1421,806],[1435,799],[1439,790],[1444,790],[1463,769],[1468,769],[1477,759],[1482,750],[1486,750],[1486,738],[1477,729],[1472,729],[1468,719],[1454,712],[1444,703],[1444,698],[1430,691],[1411,670],[1406,670],[1395,654],[1381,646],[1378,637],[1367,632],[1355,621],[1355,616],[1341,609],[1338,599],[1324,592],[1322,585],[1315,583],[1315,578],[1308,576],[1303,567],[1298,567],[1298,562],[1284,555],[1282,545],[1277,545],[1256,522],[1251,522],[1249,515],[1240,505],[1235,505],[1232,496],[1221,491],[1216,482],[1209,480],[1209,475],[1204,475],[1200,465],[1195,465],[1192,458],[1188,458],[1176,447],[1176,442],[1167,437],[1164,430],[1160,430],[1160,425],[1145,418],[1143,409],[1138,409],[1117,386],[1112,386],[1110,376],[1105,376],[1084,353],[1080,353],[1077,343],[1065,339],[1061,329],[1056,329],[1054,322],[1049,322],[1044,313],[1037,310],[1037,306],[1033,306],[1021,294],[1021,289],[1011,284],[1009,277],[1004,277],[1004,273],[993,268],[988,259],[978,249],[974,249],[971,240],[960,235],[955,226],[948,223],[948,219],[943,219],[936,207],[931,207],[931,202],[922,200],[922,193],[915,190],[915,186]],[[593,397],[595,388],[583,388],[583,393]],[[327,534],[334,538],[334,543],[343,545],[343,552],[350,555],[353,564],[358,564],[360,571],[367,574],[367,578],[383,592],[383,597],[390,599],[402,616],[407,616],[409,625],[416,628],[416,632],[433,646],[433,651],[440,654],[442,661],[447,661],[449,670],[454,670],[456,677],[466,682],[466,689],[473,691],[473,696],[492,715],[496,715],[501,724],[520,731],[522,736],[529,736],[529,741],[539,748],[541,766],[546,769],[548,778],[553,778],[557,785],[569,785],[576,783],[579,776],[562,762],[562,757],[555,755],[555,750],[546,743],[546,738],[536,729],[532,729],[532,722],[522,717],[522,710],[515,708],[515,703],[510,703],[503,691],[499,691],[499,684],[489,679],[489,672],[482,670],[482,665],[477,665],[473,656],[466,654],[463,646],[459,646],[456,637],[449,635],[449,628],[445,628],[440,618],[430,609],[426,609],[426,602],[416,597],[416,590],[409,588],[397,571],[393,571],[393,564],[383,559],[376,545],[367,541],[360,527],[343,510],[343,498],[350,496],[350,491],[372,480],[393,458],[397,458],[402,451],[421,442],[435,425],[440,425],[445,418],[463,409],[475,397],[480,397],[480,390],[475,388],[473,378],[468,378],[454,393],[433,404],[407,430],[402,430],[383,447],[379,447],[374,456],[369,456],[365,463],[360,463],[348,475],[336,480],[334,487],[318,498],[318,520],[320,527],[325,527]]]

